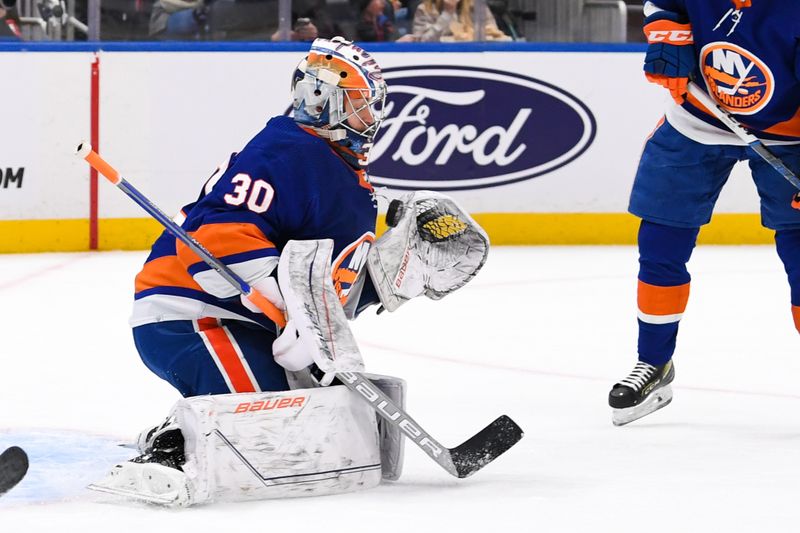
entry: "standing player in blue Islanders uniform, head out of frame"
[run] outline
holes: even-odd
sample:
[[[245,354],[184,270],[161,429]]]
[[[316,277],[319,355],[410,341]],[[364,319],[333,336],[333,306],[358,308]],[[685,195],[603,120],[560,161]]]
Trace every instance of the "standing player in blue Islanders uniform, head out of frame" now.
[[[775,230],[800,330],[800,211],[778,172],[687,94],[690,80],[790,168],[800,169],[800,4],[784,0],[651,0],[644,71],[674,100],[647,140],[629,210],[639,227],[638,363],[609,393],[623,425],[672,400],[686,264],[733,166],[747,161],[762,224]]]

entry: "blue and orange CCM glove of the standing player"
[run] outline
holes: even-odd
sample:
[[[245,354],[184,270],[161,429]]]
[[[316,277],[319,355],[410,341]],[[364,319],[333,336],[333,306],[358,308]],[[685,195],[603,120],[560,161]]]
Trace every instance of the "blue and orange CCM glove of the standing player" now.
[[[648,43],[645,77],[669,89],[672,99],[682,104],[689,76],[697,66],[692,27],[681,24],[673,13],[659,11],[645,19],[644,34]]]

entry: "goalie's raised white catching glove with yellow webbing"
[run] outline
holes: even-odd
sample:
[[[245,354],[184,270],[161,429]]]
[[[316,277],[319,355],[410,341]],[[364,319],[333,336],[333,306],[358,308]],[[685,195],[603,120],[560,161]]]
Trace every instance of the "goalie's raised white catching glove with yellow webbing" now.
[[[486,262],[489,237],[455,200],[416,191],[394,200],[391,226],[367,255],[381,304],[394,311],[425,295],[440,300],[463,287]]]

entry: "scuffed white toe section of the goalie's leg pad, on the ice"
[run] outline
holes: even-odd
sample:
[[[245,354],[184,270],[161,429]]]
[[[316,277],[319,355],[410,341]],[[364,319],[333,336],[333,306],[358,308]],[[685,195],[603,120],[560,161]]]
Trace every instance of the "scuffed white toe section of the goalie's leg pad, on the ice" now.
[[[186,475],[159,464],[121,463],[104,479],[87,488],[167,507],[184,507],[192,503]]]

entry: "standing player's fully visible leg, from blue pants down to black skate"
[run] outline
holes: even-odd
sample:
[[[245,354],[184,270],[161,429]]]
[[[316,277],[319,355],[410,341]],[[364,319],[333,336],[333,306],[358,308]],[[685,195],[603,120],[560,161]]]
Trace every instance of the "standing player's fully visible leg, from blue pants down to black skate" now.
[[[668,120],[645,144],[628,207],[642,219],[639,361],[609,394],[616,425],[650,414],[672,399],[671,360],[689,296],[686,263],[698,228],[711,220],[714,203],[743,153],[740,147],[693,141]]]

